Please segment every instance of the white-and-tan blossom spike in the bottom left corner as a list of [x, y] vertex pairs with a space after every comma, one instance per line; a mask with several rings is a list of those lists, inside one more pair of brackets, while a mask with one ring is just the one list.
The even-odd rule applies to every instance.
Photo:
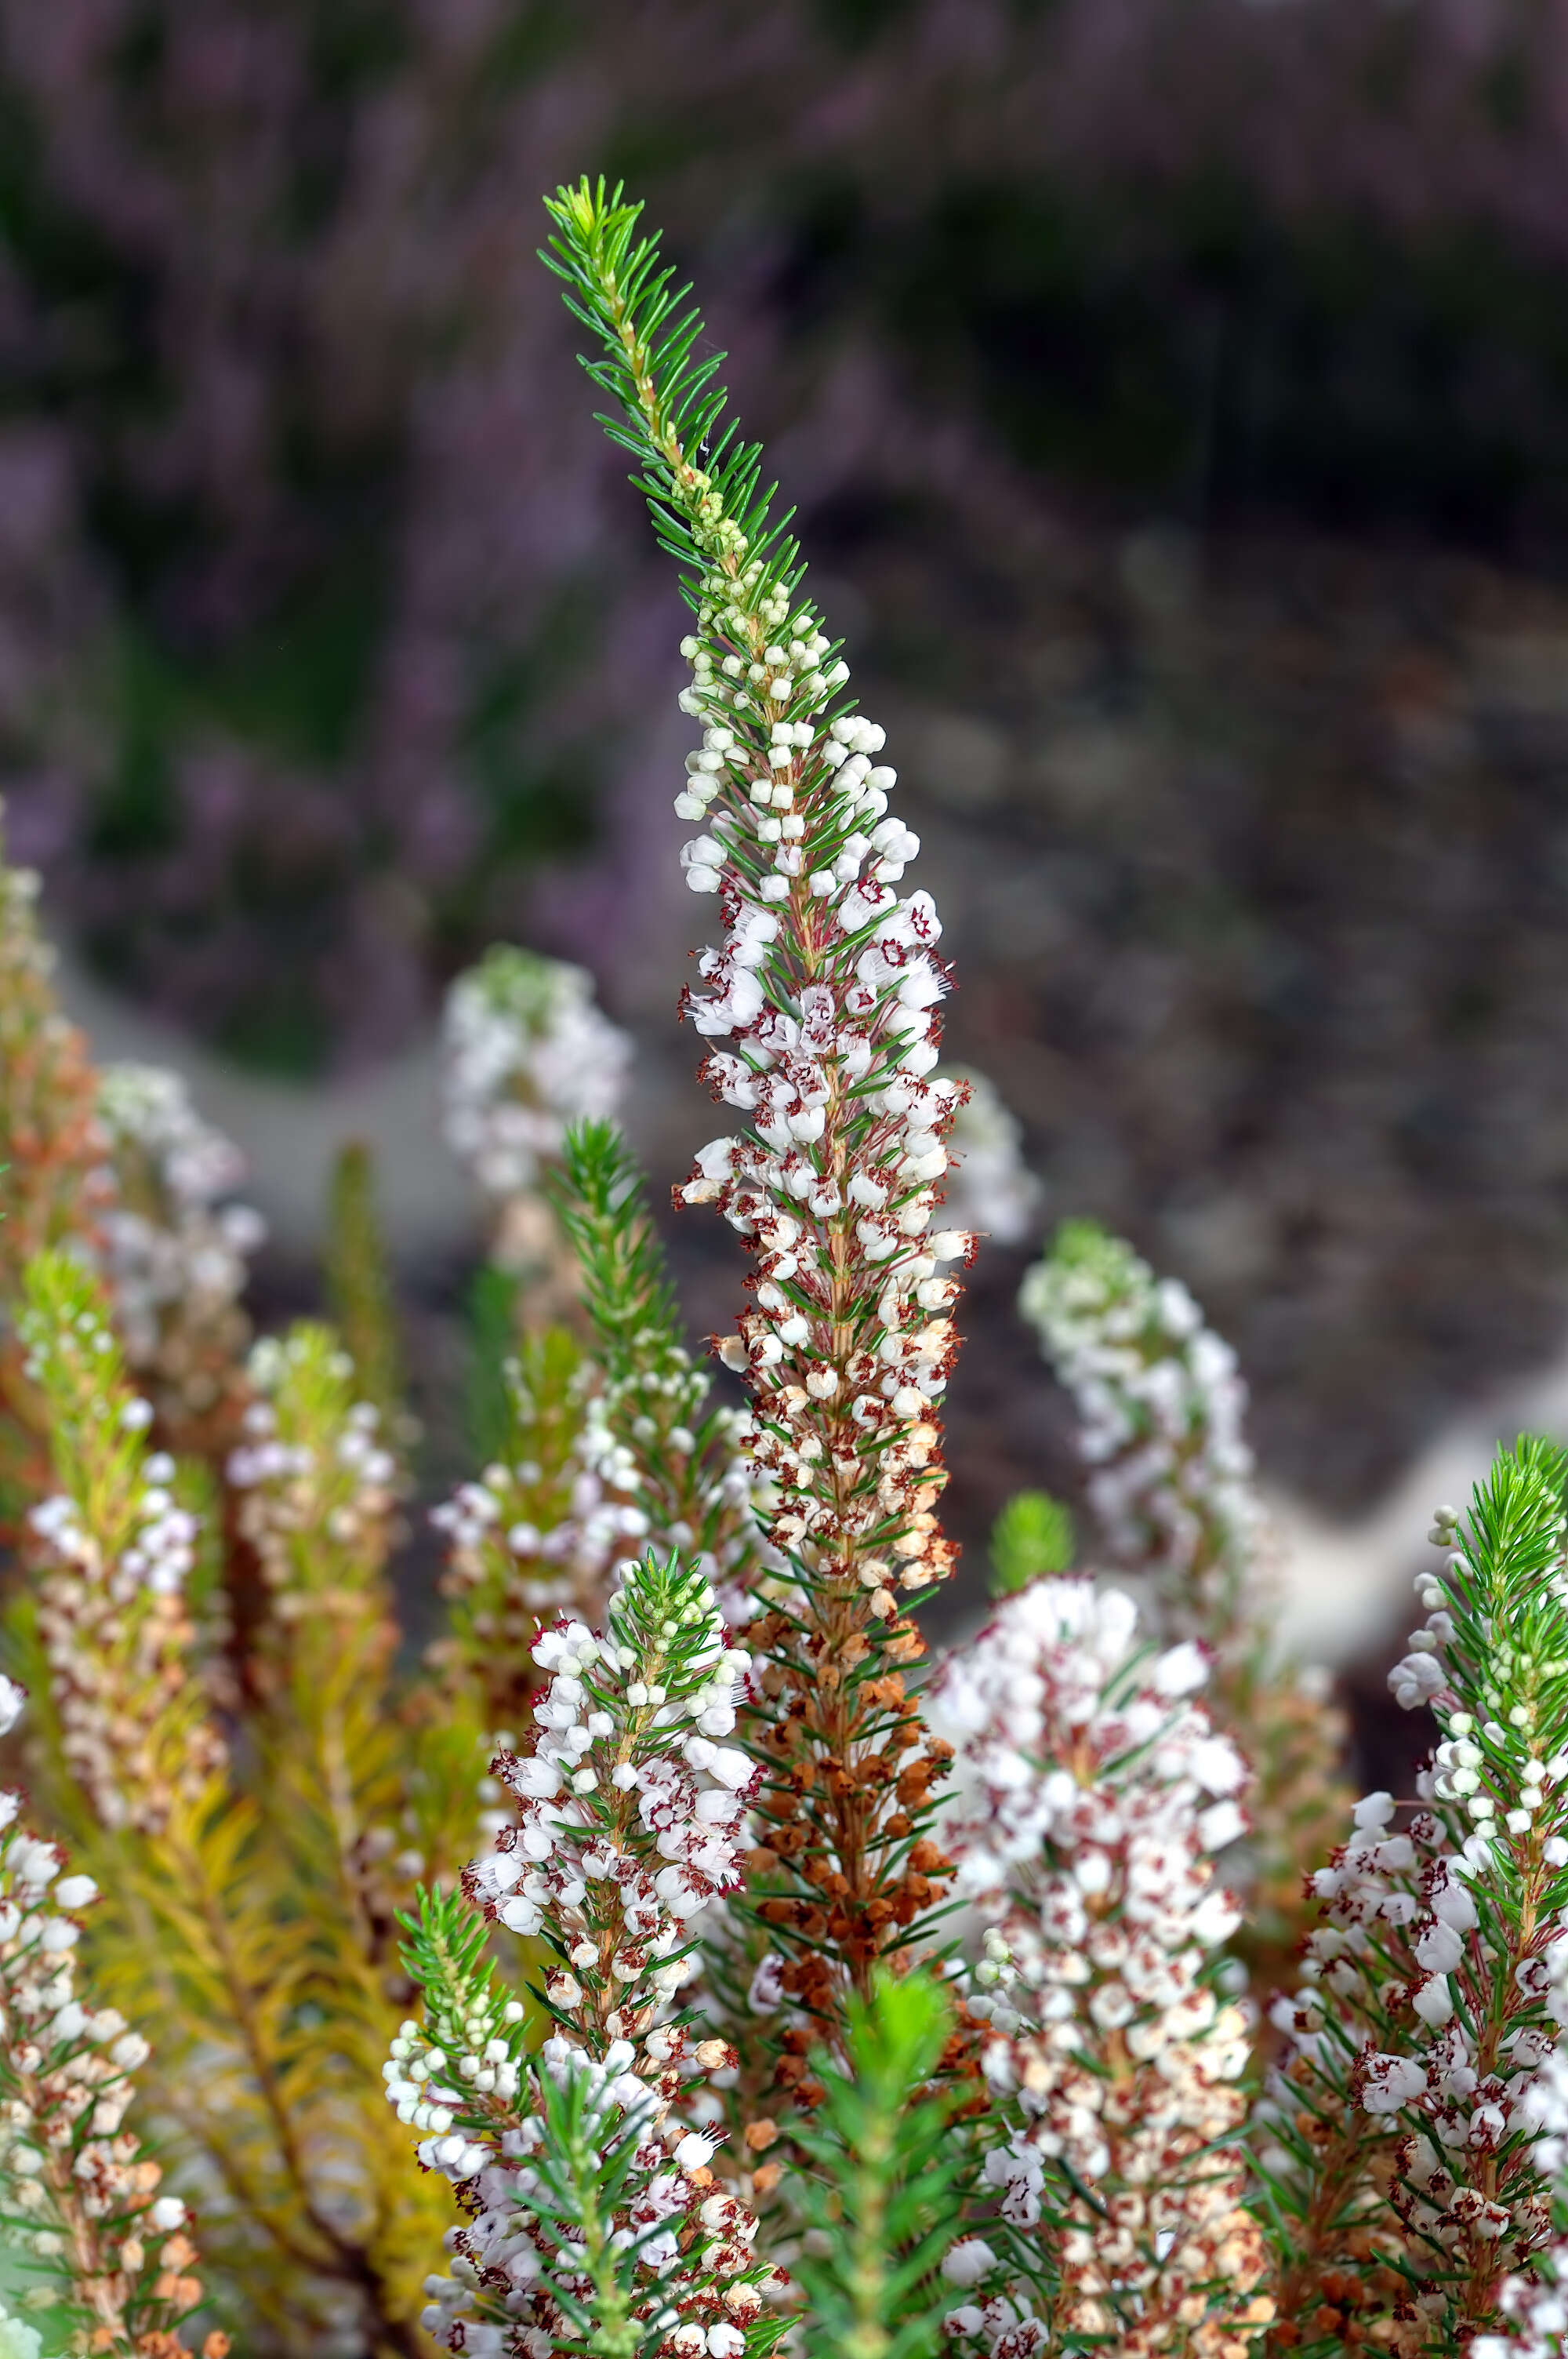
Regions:
[[[0, 1677], [0, 1732], [24, 1694]], [[19, 1824], [0, 1793], [0, 2173], [7, 2241], [87, 2319], [92, 2347], [177, 2359], [174, 2321], [200, 2300], [196, 2248], [179, 2196], [160, 2196], [158, 2163], [125, 2128], [146, 2041], [113, 2008], [75, 1991], [80, 1916], [99, 1897], [90, 1875]], [[9, 2328], [9, 2333], [7, 2333]], [[28, 2328], [0, 2324], [0, 2350], [21, 2359]], [[33, 2350], [38, 2340], [33, 2338]], [[212, 2359], [226, 2340], [210, 2340]]]

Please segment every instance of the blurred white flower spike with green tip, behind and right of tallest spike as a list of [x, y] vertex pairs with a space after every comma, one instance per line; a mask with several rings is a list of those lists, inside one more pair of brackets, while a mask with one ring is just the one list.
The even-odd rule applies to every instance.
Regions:
[[1151, 1576], [1172, 1632], [1245, 1628], [1264, 1517], [1231, 1345], [1186, 1286], [1089, 1222], [1061, 1229], [1019, 1309], [1073, 1394], [1108, 1557]]

